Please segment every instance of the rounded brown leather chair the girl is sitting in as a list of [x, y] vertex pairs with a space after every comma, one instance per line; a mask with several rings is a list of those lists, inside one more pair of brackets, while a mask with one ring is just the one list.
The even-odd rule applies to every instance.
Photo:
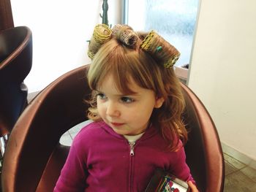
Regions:
[[[26, 107], [7, 143], [3, 191], [53, 191], [69, 151], [59, 139], [86, 120], [87, 69], [82, 66], [59, 77]], [[187, 162], [200, 191], [222, 191], [224, 164], [216, 128], [195, 94], [182, 87], [187, 101], [184, 118], [190, 130]]]

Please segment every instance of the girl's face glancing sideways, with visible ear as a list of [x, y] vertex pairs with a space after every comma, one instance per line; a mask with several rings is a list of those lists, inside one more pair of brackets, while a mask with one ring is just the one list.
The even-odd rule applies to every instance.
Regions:
[[109, 75], [97, 95], [99, 116], [121, 135], [136, 135], [145, 131], [154, 107], [161, 107], [164, 101], [157, 99], [154, 91], [140, 88], [134, 81], [129, 87], [135, 93], [124, 95], [115, 88], [113, 76]]

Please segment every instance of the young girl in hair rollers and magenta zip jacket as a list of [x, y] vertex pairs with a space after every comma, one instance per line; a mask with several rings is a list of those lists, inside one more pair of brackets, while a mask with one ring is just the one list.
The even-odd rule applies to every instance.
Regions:
[[156, 169], [187, 181], [184, 98], [173, 64], [179, 53], [154, 31], [94, 29], [87, 74], [89, 118], [72, 142], [54, 191], [145, 191]]

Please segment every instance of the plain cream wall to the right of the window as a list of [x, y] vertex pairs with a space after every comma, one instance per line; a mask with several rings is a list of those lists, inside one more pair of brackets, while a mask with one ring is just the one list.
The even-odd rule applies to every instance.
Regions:
[[201, 0], [189, 87], [220, 139], [256, 160], [256, 1]]

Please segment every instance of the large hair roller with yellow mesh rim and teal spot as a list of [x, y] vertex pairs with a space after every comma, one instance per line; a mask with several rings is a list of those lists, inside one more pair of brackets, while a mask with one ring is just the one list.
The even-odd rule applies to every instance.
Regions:
[[181, 55], [178, 50], [176, 50], [176, 47], [170, 45], [169, 42], [159, 36], [155, 31], [150, 31], [145, 39], [143, 39], [140, 47], [156, 60], [162, 61], [165, 68], [172, 67]]

